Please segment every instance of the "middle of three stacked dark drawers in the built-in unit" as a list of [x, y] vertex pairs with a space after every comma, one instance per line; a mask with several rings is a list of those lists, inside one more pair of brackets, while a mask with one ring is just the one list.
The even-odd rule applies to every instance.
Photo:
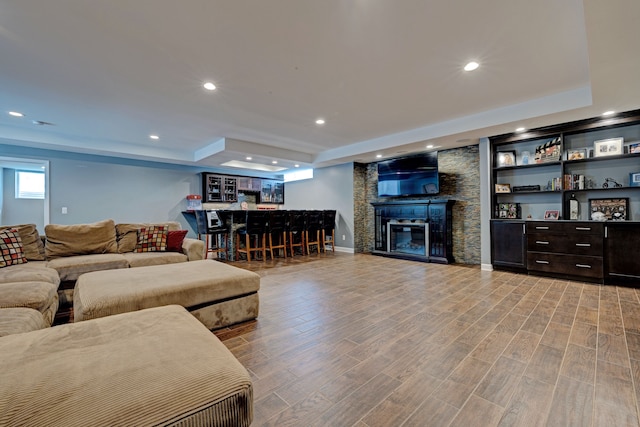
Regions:
[[571, 255], [602, 256], [603, 237], [598, 234], [531, 233], [527, 250]]

